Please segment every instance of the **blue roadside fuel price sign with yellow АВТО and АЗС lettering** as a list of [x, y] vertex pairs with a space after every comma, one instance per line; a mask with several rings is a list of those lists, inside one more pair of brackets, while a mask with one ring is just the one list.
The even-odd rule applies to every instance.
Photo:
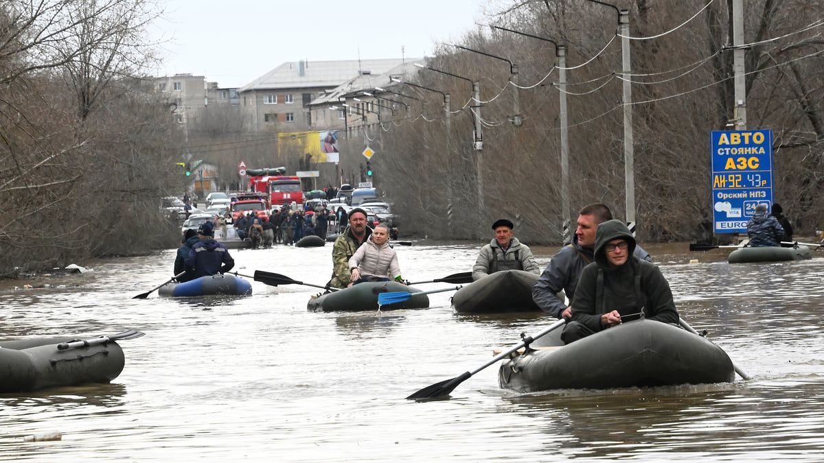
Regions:
[[756, 206], [772, 205], [772, 131], [715, 131], [713, 224], [716, 233], [746, 233]]

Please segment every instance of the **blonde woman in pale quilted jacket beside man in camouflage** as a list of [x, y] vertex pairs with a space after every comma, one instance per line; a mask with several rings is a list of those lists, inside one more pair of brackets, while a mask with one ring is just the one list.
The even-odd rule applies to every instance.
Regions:
[[369, 239], [349, 259], [353, 284], [364, 281], [389, 281], [389, 277], [402, 282], [398, 255], [389, 246], [389, 227], [379, 224]]

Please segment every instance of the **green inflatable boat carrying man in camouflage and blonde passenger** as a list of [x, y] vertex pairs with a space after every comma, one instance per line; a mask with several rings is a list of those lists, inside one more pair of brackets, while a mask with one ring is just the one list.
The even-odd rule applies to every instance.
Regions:
[[404, 302], [384, 306], [381, 310], [398, 309], [425, 309], [429, 306], [426, 294], [415, 294], [419, 289], [411, 288], [403, 283], [364, 282], [335, 292], [312, 296], [307, 304], [307, 310], [313, 312], [331, 311], [377, 311], [377, 295], [382, 292], [410, 292], [412, 296]]

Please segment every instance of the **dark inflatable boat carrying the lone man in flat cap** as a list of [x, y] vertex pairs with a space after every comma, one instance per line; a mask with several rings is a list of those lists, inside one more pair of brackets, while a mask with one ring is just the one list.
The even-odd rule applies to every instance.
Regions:
[[532, 287], [538, 278], [523, 270], [489, 274], [459, 289], [452, 296], [452, 307], [458, 313], [541, 311], [532, 301]]

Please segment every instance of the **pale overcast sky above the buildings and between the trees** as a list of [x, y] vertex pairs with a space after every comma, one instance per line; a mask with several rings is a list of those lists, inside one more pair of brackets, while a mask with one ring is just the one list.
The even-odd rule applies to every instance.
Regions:
[[421, 58], [485, 20], [489, 0], [162, 0], [157, 76], [241, 87], [287, 61]]

